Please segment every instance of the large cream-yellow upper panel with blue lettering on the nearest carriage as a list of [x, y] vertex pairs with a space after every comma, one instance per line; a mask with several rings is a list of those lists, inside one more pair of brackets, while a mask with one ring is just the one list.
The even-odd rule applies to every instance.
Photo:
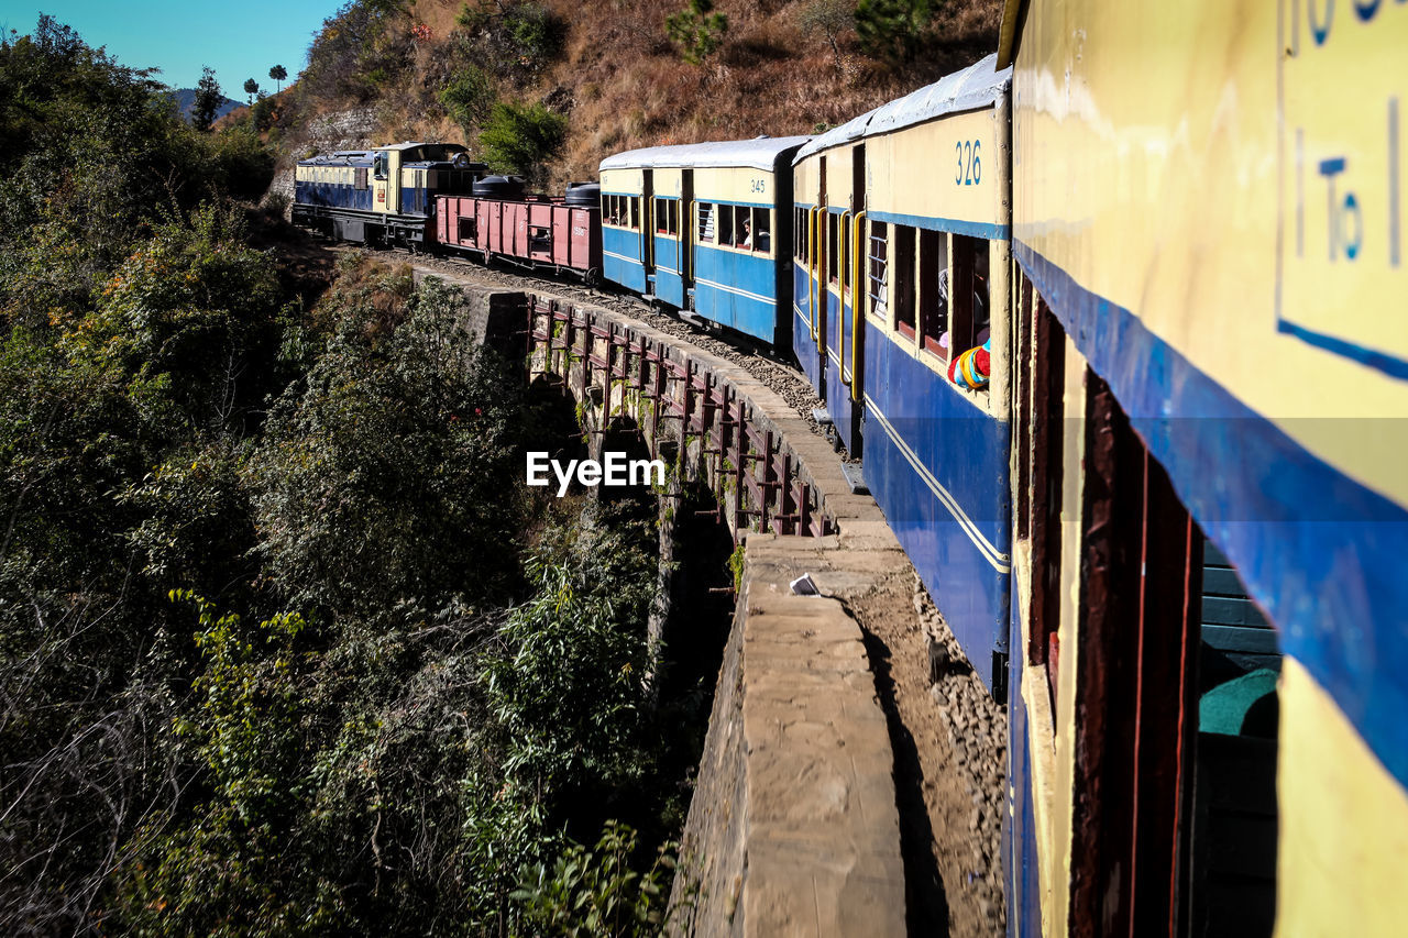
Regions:
[[1342, 354], [1408, 361], [1405, 48], [1398, 0], [1033, 0], [1012, 169], [1018, 239], [1400, 503], [1408, 421], [1304, 418], [1408, 417]]

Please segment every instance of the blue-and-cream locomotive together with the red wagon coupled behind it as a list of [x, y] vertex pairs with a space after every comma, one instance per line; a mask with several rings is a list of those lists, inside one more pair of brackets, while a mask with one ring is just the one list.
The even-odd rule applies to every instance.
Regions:
[[601, 273], [596, 183], [565, 197], [528, 194], [517, 177], [490, 176], [459, 144], [397, 144], [300, 161], [294, 224], [365, 245], [503, 258], [531, 269]]

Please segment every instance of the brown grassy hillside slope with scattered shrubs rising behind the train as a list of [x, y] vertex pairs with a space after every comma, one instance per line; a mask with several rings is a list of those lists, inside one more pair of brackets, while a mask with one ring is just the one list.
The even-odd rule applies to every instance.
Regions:
[[[566, 118], [565, 141], [536, 173], [549, 187], [596, 176], [622, 149], [815, 132], [991, 52], [1002, 4], [929, 3], [938, 11], [912, 20], [912, 55], [887, 62], [867, 54], [846, 0], [718, 0], [728, 28], [700, 65], [667, 38], [666, 18], [686, 6], [358, 0], [328, 20], [283, 97], [284, 163], [317, 149], [318, 117], [351, 108], [372, 115], [366, 142], [463, 141], [483, 154], [496, 101], [542, 104]], [[835, 44], [808, 21], [829, 23]]]

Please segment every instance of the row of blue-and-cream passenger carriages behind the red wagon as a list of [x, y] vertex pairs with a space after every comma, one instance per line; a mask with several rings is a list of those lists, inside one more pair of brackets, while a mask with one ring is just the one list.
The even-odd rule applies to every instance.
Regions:
[[610, 158], [603, 270], [790, 344], [863, 458], [1008, 704], [1011, 935], [1401, 934], [1408, 7], [1001, 37], [773, 162]]

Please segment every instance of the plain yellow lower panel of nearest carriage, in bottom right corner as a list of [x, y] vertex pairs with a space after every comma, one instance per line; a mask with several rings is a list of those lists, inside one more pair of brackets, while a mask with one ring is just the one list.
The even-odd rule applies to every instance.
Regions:
[[1294, 658], [1280, 699], [1277, 938], [1402, 935], [1408, 794]]

